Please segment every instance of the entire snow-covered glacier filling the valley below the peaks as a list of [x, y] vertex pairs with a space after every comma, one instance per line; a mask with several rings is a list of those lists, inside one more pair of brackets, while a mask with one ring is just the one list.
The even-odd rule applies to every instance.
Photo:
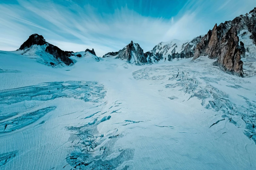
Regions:
[[255, 76], [39, 51], [0, 51], [0, 170], [256, 169]]

